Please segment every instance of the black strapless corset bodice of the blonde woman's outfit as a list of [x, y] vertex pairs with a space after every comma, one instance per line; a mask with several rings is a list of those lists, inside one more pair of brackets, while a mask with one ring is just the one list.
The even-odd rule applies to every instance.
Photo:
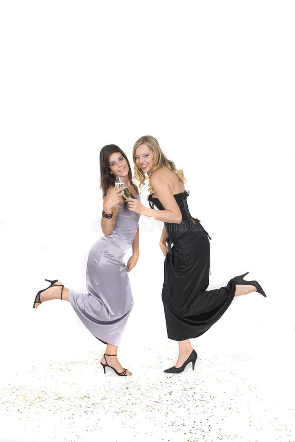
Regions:
[[[200, 221], [196, 218], [193, 218], [190, 214], [188, 203], [187, 203], [187, 197], [189, 196], [189, 193], [187, 191], [176, 193], [173, 195], [178, 207], [180, 209], [181, 215], [182, 215], [182, 221], [177, 223], [172, 222], [165, 222], [165, 226], [169, 235], [169, 238], [172, 240], [172, 242], [181, 237], [183, 233], [188, 231], [194, 231], [198, 228], [203, 229], [203, 227], [200, 224]], [[148, 195], [148, 202], [149, 207], [151, 209], [154, 209], [154, 206], [159, 210], [165, 210], [165, 208], [162, 206], [160, 200], [158, 198], [154, 198], [151, 193]], [[204, 230], [205, 231], [205, 230]], [[208, 233], [205, 231], [207, 236], [209, 237]], [[210, 238], [210, 237], [209, 237]], [[211, 239], [211, 238], [210, 238]]]

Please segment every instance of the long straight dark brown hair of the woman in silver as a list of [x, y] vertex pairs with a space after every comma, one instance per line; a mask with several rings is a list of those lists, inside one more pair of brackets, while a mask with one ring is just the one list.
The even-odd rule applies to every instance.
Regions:
[[130, 180], [130, 183], [132, 183], [132, 173], [131, 173], [131, 167], [128, 161], [128, 158], [124, 154], [123, 150], [120, 149], [119, 146], [116, 146], [116, 144], [107, 144], [106, 146], [103, 146], [103, 148], [100, 151], [99, 154], [99, 163], [100, 163], [100, 188], [102, 189], [102, 197], [104, 198], [106, 195], [106, 192], [110, 186], [115, 187], [115, 181], [116, 177], [113, 173], [110, 172], [110, 165], [109, 165], [109, 158], [113, 153], [120, 152], [121, 155], [125, 158], [127, 161], [129, 172], [128, 172], [128, 178]]

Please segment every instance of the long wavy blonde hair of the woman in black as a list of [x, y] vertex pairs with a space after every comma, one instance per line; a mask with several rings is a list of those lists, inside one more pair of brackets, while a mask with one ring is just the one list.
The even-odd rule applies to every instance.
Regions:
[[[143, 169], [141, 167], [137, 166], [137, 164], [135, 162], [135, 152], [136, 152], [136, 149], [141, 144], [147, 144], [149, 150], [151, 152], [153, 152], [153, 164], [152, 164], [152, 168], [148, 172], [148, 176], [145, 176]], [[159, 146], [158, 141], [156, 140], [156, 138], [152, 137], [151, 135], [144, 135], [143, 137], [140, 137], [135, 142], [135, 144], [133, 146], [133, 161], [134, 161], [134, 178], [139, 181], [139, 187], [141, 189], [144, 186], [145, 181], [147, 179], [149, 179], [151, 177], [151, 175], [157, 169], [159, 169], [160, 167], [163, 167], [163, 166], [168, 167], [169, 170], [171, 170], [173, 173], [175, 173], [175, 175], [177, 176], [177, 178], [179, 179], [181, 184], [184, 185], [185, 177], [183, 174], [183, 170], [177, 169], [175, 164], [173, 163], [173, 161], [170, 161], [166, 158], [166, 156], [164, 155], [164, 153], [162, 152], [162, 150]], [[154, 192], [152, 186], [150, 185], [150, 181], [148, 183], [148, 192], [150, 192], [150, 193]]]

